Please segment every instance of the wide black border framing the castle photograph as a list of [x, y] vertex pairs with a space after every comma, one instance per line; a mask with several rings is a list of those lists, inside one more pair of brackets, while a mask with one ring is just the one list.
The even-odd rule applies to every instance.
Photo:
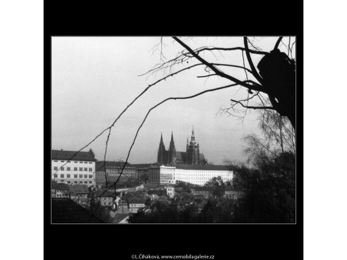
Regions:
[[[60, 2], [59, 2], [60, 3]], [[132, 3], [135, 6], [135, 3]], [[136, 4], [137, 6], [138, 4]], [[52, 225], [50, 175], [45, 175], [45, 255], [63, 258], [131, 259], [136, 254], [207, 254], [215, 259], [301, 258], [303, 248], [302, 168], [302, 7], [238, 7], [202, 4], [199, 7], [147, 3], [139, 11], [118, 5], [45, 6], [45, 169], [50, 172], [51, 36], [296, 36], [297, 62], [297, 218], [283, 225]], [[132, 8], [134, 8], [134, 6]], [[160, 9], [158, 9], [160, 7]], [[276, 9], [275, 9], [276, 8]], [[146, 9], [151, 9], [149, 12]], [[201, 9], [201, 10], [200, 10]], [[93, 256], [93, 254], [96, 254]], [[78, 257], [78, 258], [76, 258]]]

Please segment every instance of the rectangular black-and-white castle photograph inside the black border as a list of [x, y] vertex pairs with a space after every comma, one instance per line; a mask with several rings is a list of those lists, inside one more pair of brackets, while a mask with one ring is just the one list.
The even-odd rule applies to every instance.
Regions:
[[52, 224], [296, 224], [296, 36], [51, 36]]

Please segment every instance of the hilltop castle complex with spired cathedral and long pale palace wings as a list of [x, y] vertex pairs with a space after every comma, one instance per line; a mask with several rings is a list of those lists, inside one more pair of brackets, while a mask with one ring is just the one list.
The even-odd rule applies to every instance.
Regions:
[[[225, 165], [208, 163], [200, 153], [195, 141], [194, 128], [190, 142], [187, 138], [186, 152], [177, 152], [171, 133], [169, 149], [165, 149], [160, 136], [157, 162], [131, 165], [124, 162], [97, 161], [89, 152], [52, 150], [52, 179], [58, 184], [94, 186], [107, 182], [127, 182], [129, 178], [156, 185], [174, 185], [186, 182], [203, 186], [213, 177], [220, 176], [223, 182], [232, 181], [233, 171]], [[123, 174], [120, 177], [120, 171]], [[59, 172], [59, 173], [58, 173]], [[170, 192], [173, 187], [169, 188]], [[59, 190], [59, 189], [57, 189]], [[60, 189], [61, 190], [61, 189]]]

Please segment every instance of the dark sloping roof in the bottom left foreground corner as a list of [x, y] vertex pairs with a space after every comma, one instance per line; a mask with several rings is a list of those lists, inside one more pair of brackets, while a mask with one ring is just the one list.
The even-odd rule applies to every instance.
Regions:
[[52, 198], [52, 223], [102, 224], [105, 222], [73, 202], [70, 198]]

